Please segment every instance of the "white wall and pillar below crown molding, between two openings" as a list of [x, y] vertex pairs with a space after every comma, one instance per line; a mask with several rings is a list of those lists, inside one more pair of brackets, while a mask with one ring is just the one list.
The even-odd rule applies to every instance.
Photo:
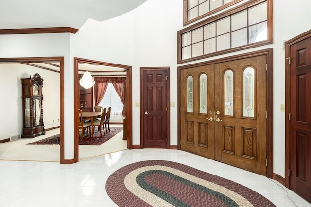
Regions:
[[65, 57], [65, 159], [74, 157], [73, 59], [70, 58], [71, 35], [69, 33], [0, 35], [0, 58]]

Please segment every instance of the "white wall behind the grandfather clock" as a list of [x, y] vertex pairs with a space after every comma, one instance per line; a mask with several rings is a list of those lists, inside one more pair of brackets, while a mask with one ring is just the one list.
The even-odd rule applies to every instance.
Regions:
[[[21, 78], [33, 77], [38, 73], [43, 79], [43, 121], [44, 128], [60, 126], [59, 73], [24, 64], [0, 64], [0, 139], [22, 134], [23, 109]], [[55, 122], [53, 123], [53, 119]]]

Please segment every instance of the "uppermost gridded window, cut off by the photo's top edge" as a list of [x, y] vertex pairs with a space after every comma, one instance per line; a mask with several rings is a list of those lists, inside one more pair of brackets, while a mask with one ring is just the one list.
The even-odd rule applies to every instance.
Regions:
[[211, 15], [242, 0], [184, 0], [184, 25]]

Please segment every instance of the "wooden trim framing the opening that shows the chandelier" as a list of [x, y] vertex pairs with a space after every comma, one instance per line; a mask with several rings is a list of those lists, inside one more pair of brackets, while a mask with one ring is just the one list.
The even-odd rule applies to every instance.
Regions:
[[74, 58], [74, 162], [79, 161], [79, 133], [78, 133], [78, 109], [80, 107], [79, 103], [79, 93], [80, 93], [80, 84], [79, 84], [79, 68], [78, 64], [95, 64], [95, 65], [104, 65], [111, 67], [119, 67], [126, 69], [126, 119], [127, 119], [127, 148], [132, 149], [132, 66], [106, 63], [95, 60], [88, 60], [83, 58]]

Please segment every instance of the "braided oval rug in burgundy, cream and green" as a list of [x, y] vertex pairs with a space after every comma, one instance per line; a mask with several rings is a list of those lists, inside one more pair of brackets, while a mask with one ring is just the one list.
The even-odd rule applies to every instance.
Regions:
[[108, 177], [106, 191], [120, 207], [275, 207], [238, 183], [163, 160], [120, 168]]

